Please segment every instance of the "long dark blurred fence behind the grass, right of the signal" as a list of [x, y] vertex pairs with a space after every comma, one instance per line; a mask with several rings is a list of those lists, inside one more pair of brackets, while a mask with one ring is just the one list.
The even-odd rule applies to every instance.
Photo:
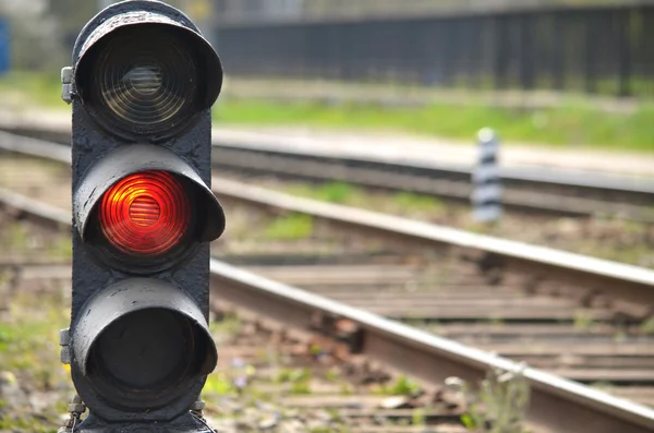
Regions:
[[[227, 72], [654, 96], [654, 5], [222, 23]], [[647, 44], [647, 41], [650, 44]]]

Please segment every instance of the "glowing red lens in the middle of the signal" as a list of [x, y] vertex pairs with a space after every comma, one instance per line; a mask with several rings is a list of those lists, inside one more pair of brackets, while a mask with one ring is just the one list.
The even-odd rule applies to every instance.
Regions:
[[160, 255], [180, 242], [191, 220], [189, 196], [166, 171], [123, 178], [102, 196], [99, 219], [107, 240], [132, 255]]

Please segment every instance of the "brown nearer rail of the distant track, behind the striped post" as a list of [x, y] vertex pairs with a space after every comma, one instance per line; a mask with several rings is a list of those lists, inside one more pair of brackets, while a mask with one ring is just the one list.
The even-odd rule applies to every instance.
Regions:
[[[364, 188], [392, 192], [411, 192], [435, 195], [459, 203], [470, 204], [472, 184], [470, 172], [460, 170], [461, 176], [452, 175], [452, 169], [421, 168], [420, 166], [380, 166], [380, 163], [362, 163], [352, 159], [328, 160], [332, 158], [296, 157], [278, 152], [243, 151], [225, 145], [216, 146], [214, 168], [256, 175], [271, 175], [290, 180], [344, 181]], [[371, 166], [371, 167], [367, 167]], [[450, 179], [452, 178], [452, 179]], [[534, 189], [536, 184], [530, 180]], [[505, 182], [506, 183], [506, 182]], [[542, 183], [540, 183], [542, 187]], [[585, 189], [585, 187], [584, 187]], [[579, 192], [580, 194], [583, 191]], [[617, 194], [611, 190], [611, 194]], [[637, 194], [633, 193], [632, 194]], [[638, 192], [637, 200], [644, 200]], [[649, 196], [649, 195], [647, 195]], [[652, 195], [654, 197], [654, 194]], [[652, 222], [654, 214], [642, 206], [629, 204], [610, 205], [600, 200], [579, 196], [561, 196], [548, 192], [531, 192], [511, 189], [502, 194], [502, 206], [512, 211], [558, 216], [619, 216], [632, 220]]]

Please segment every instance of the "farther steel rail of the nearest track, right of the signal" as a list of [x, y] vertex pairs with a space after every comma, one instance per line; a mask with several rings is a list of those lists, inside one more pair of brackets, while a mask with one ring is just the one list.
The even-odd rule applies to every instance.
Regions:
[[374, 232], [399, 243], [426, 248], [459, 248], [489, 255], [494, 266], [522, 275], [537, 276], [589, 293], [606, 292], [632, 302], [643, 316], [652, 313], [654, 270], [589, 257], [544, 246], [476, 234], [372, 211], [295, 197], [241, 182], [216, 179], [214, 192], [221, 199], [257, 206], [307, 214], [358, 232]]

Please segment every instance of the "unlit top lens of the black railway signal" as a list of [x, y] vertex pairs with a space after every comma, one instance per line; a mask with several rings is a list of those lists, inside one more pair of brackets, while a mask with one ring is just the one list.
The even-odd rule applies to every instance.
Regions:
[[159, 135], [187, 125], [197, 112], [196, 65], [183, 38], [166, 27], [112, 34], [92, 67], [90, 105], [113, 131]]

